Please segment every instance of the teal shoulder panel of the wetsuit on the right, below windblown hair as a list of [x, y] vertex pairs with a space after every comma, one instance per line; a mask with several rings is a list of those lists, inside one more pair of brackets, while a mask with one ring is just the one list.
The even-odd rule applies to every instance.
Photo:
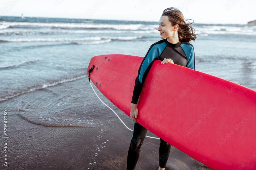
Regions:
[[195, 69], [195, 54], [194, 54], [194, 47], [192, 44], [189, 43], [182, 43], [180, 45], [185, 52], [187, 58], [188, 58], [188, 63], [187, 63], [187, 68], [190, 69]]

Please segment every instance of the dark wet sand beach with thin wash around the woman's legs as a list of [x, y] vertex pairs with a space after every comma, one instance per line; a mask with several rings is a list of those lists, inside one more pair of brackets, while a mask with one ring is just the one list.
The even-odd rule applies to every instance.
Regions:
[[[130, 117], [93, 88], [132, 129]], [[8, 111], [9, 137], [6, 167], [1, 133], [0, 169], [126, 169], [132, 131], [101, 103], [87, 77], [23, 94], [0, 106], [2, 117]], [[147, 135], [157, 137], [149, 131]], [[159, 144], [159, 139], [145, 138], [135, 169], [158, 167]], [[166, 169], [210, 168], [172, 146]]]

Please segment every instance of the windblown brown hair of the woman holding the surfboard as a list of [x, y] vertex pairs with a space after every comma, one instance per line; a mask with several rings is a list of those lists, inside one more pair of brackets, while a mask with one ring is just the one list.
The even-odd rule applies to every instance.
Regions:
[[[195, 29], [192, 28], [191, 24], [194, 23], [194, 20], [192, 23], [186, 23], [185, 21], [189, 20], [189, 19], [184, 19], [184, 16], [182, 14], [182, 12], [175, 7], [171, 7], [171, 8], [166, 8], [163, 11], [162, 16], [167, 16], [169, 18], [169, 21], [171, 22], [172, 26], [178, 24], [179, 28], [178, 28], [178, 36], [179, 36], [179, 40], [183, 41], [183, 42], [187, 42], [189, 43], [190, 40], [195, 41], [196, 39], [196, 35], [195, 33]], [[194, 33], [193, 33], [194, 31]]]

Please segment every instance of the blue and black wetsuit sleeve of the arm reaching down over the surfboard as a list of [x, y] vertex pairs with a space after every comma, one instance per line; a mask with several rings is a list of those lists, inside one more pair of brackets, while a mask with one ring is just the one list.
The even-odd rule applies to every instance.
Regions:
[[138, 69], [138, 76], [135, 79], [131, 103], [137, 104], [141, 94], [142, 85], [146, 79], [147, 73], [149, 72], [153, 64], [153, 61], [159, 58], [159, 52], [160, 51], [157, 49], [157, 47], [152, 44], [148, 49], [146, 56], [143, 58], [141, 65]]

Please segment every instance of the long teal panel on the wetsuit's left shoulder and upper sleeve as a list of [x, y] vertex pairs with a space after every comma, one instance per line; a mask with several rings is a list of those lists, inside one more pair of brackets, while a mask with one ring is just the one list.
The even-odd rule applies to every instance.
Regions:
[[163, 52], [163, 50], [165, 49], [166, 47], [166, 43], [163, 42], [161, 44], [156, 44], [154, 45], [150, 51], [148, 52], [145, 60], [143, 61], [142, 63], [142, 66], [141, 66], [141, 70], [140, 70], [140, 75], [139, 75], [139, 81], [140, 83], [142, 83], [142, 78], [143, 78], [143, 75], [146, 71], [146, 69], [148, 68], [148, 66], [150, 65], [150, 63], [154, 60], [154, 59], [157, 59], [159, 60], [159, 56], [161, 55], [161, 53]]

